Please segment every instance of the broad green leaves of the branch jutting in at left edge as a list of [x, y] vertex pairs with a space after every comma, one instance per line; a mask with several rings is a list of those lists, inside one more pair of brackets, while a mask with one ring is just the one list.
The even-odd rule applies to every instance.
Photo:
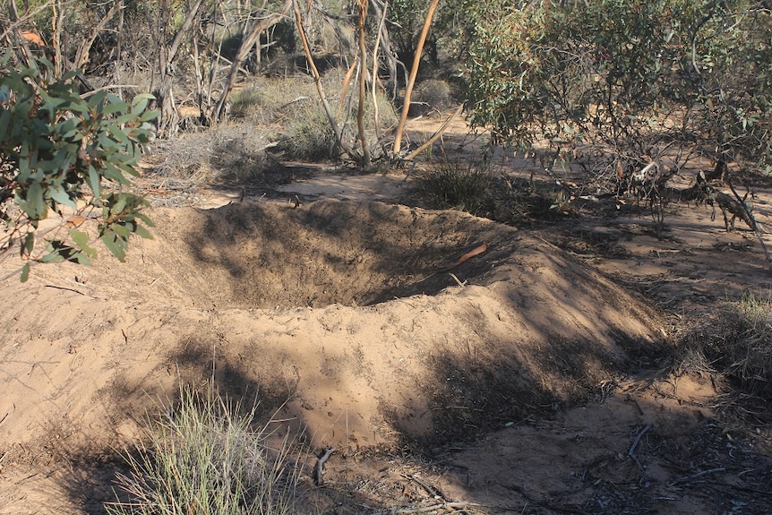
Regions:
[[[10, 54], [2, 64], [0, 252], [21, 244], [22, 280], [30, 262], [90, 262], [97, 239], [123, 261], [129, 237], [150, 237], [152, 226], [142, 197], [123, 191], [151, 137], [150, 95], [131, 104], [106, 91], [83, 99], [74, 72], [49, 80], [47, 61], [11, 68]], [[52, 211], [60, 223], [41, 227]], [[51, 233], [40, 250], [39, 236]]]

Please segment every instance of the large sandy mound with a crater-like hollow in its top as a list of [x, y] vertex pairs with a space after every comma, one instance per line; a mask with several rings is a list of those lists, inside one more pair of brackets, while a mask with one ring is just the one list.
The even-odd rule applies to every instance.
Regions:
[[639, 300], [463, 213], [320, 201], [152, 218], [155, 239], [126, 263], [4, 285], [0, 453], [115, 444], [155, 399], [212, 374], [267, 412], [287, 401], [281, 417], [314, 445], [438, 445], [575, 399], [661, 349]]

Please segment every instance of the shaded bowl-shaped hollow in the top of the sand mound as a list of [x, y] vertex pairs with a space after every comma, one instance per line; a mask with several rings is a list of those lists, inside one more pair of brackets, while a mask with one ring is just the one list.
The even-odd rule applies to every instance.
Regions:
[[[154, 257], [167, 282], [197, 304], [243, 308], [374, 305], [433, 295], [457, 286], [456, 279], [482, 280], [517, 240], [516, 229], [464, 213], [381, 202], [229, 204], [195, 211], [184, 234], [175, 230], [172, 217], [179, 216], [159, 211], [156, 217], [166, 248]], [[485, 253], [453, 266], [484, 244]]]

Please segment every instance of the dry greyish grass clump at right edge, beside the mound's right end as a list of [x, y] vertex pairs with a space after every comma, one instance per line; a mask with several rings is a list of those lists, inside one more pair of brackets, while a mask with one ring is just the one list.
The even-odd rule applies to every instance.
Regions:
[[678, 365], [724, 376], [746, 394], [772, 399], [772, 300], [749, 293], [727, 303], [686, 338]]

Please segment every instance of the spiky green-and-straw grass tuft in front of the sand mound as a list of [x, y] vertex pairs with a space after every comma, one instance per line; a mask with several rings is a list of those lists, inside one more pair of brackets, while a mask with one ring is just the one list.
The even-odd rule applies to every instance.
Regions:
[[254, 409], [244, 412], [211, 388], [183, 390], [178, 406], [150, 423], [145, 441], [126, 453], [129, 471], [117, 478], [124, 500], [107, 503], [107, 513], [296, 513], [300, 467], [293, 446], [253, 424]]

